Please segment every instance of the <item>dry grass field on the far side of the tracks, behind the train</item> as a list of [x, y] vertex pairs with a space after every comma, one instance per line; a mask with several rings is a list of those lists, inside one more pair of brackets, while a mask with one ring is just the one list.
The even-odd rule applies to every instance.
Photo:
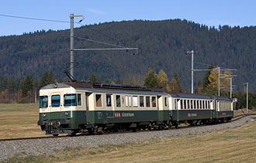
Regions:
[[[243, 111], [236, 110], [237, 114]], [[0, 104], [0, 139], [46, 136], [37, 126], [38, 116], [38, 104]]]

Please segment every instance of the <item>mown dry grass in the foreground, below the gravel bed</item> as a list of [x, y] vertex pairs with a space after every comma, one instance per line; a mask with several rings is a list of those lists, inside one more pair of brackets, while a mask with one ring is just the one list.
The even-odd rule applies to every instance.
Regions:
[[152, 139], [99, 148], [67, 148], [56, 155], [11, 162], [255, 162], [256, 122], [226, 131]]

